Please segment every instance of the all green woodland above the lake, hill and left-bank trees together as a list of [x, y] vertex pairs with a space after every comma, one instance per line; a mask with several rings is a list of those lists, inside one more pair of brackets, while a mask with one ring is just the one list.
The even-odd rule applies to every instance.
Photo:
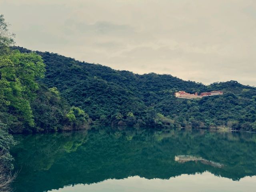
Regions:
[[[182, 100], [174, 93], [222, 90]], [[0, 160], [12, 167], [9, 133], [84, 129], [88, 124], [148, 128], [256, 130], [256, 88], [236, 81], [202, 83], [155, 73], [134, 74], [50, 52], [14, 46], [0, 15]], [[0, 181], [1, 183], [1, 181]]]

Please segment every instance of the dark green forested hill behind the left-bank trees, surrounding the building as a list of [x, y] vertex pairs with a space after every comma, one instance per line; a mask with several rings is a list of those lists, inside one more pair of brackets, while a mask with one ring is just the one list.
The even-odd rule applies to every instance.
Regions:
[[[205, 86], [166, 74], [139, 75], [59, 54], [37, 53], [46, 64], [45, 78], [39, 81], [49, 88], [56, 87], [71, 106], [82, 108], [94, 123], [256, 130], [254, 87], [236, 81]], [[179, 90], [222, 90], [224, 95], [182, 100], [173, 95]]]

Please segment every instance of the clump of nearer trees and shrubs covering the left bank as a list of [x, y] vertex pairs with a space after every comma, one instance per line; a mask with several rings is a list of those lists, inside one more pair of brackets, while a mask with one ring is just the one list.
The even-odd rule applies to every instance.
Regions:
[[84, 128], [88, 115], [70, 106], [56, 88], [36, 80], [44, 78], [45, 64], [35, 52], [12, 50], [14, 34], [0, 15], [0, 189], [9, 190], [14, 145], [9, 133]]

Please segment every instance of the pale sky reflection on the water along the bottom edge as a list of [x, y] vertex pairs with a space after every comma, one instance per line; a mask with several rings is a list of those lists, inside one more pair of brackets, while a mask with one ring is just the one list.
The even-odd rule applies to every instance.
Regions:
[[256, 176], [244, 177], [239, 182], [214, 176], [210, 172], [182, 174], [168, 180], [146, 179], [139, 176], [122, 180], [108, 179], [95, 184], [65, 186], [49, 192], [255, 192]]

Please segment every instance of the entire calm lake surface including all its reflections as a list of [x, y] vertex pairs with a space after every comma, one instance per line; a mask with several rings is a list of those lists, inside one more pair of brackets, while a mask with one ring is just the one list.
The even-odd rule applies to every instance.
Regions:
[[16, 135], [16, 192], [255, 192], [256, 134], [96, 127]]

